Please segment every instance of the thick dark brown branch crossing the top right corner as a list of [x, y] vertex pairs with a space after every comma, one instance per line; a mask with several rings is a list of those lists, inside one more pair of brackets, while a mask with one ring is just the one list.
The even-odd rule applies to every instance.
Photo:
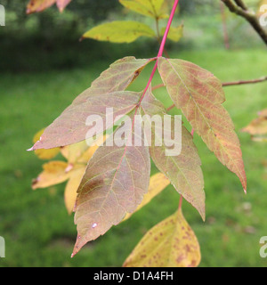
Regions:
[[250, 12], [247, 10], [246, 5], [242, 0], [234, 0], [236, 4], [234, 4], [231, 0], [221, 0], [223, 4], [225, 4], [228, 9], [246, 19], [250, 25], [255, 29], [257, 34], [262, 37], [263, 42], [267, 45], [267, 31], [261, 26], [255, 12]]

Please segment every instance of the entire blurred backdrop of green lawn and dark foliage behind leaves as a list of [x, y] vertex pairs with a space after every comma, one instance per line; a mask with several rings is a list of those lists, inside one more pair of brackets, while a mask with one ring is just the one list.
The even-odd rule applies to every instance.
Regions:
[[[85, 31], [110, 20], [141, 20], [155, 28], [153, 20], [125, 10], [117, 0], [72, 0], [62, 13], [53, 6], [30, 15], [28, 0], [0, 4], [6, 12], [5, 27], [0, 27], [0, 236], [5, 240], [0, 266], [121, 266], [143, 234], [174, 213], [177, 192], [166, 188], [71, 259], [77, 232], [73, 215], [64, 206], [65, 184], [33, 191], [32, 179], [45, 161], [26, 150], [34, 134], [57, 118], [110, 63], [127, 55], [148, 58], [158, 53], [157, 40], [140, 38], [129, 45], [80, 42]], [[174, 25], [181, 23], [180, 42], [166, 45], [172, 58], [192, 61], [223, 82], [267, 75], [266, 45], [246, 20], [222, 10], [220, 1], [181, 0]], [[136, 85], [140, 90], [150, 69], [143, 72], [143, 81]], [[195, 136], [205, 176], [206, 223], [186, 202], [183, 214], [200, 243], [200, 266], [267, 265], [267, 258], [259, 255], [259, 240], [267, 236], [266, 142], [252, 142], [241, 132], [267, 108], [266, 90], [266, 82], [225, 88], [224, 106], [239, 134], [247, 170], [247, 195], [238, 178]], [[159, 89], [156, 96], [163, 99], [165, 92]]]

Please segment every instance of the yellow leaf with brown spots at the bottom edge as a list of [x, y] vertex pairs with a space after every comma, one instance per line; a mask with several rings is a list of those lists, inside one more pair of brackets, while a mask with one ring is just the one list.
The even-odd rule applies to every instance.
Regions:
[[124, 267], [196, 267], [200, 260], [197, 237], [178, 210], [145, 234]]

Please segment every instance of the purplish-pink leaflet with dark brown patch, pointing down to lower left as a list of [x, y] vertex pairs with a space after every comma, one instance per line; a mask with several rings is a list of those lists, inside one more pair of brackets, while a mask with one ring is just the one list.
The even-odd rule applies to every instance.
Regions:
[[[132, 124], [134, 111], [128, 118], [127, 135], [130, 145], [117, 146], [117, 132], [89, 160], [85, 175], [77, 190], [75, 224], [77, 224], [76, 254], [85, 243], [96, 240], [119, 224], [127, 213], [133, 213], [142, 203], [150, 184], [149, 147], [134, 146]], [[131, 132], [131, 133], [130, 133]]]

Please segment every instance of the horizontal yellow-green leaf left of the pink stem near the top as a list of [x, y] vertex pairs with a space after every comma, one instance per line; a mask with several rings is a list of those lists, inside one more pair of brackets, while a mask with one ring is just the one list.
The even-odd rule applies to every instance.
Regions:
[[112, 21], [101, 24], [87, 31], [83, 38], [89, 37], [98, 41], [111, 43], [132, 43], [138, 37], [155, 37], [155, 32], [149, 26], [138, 21]]

